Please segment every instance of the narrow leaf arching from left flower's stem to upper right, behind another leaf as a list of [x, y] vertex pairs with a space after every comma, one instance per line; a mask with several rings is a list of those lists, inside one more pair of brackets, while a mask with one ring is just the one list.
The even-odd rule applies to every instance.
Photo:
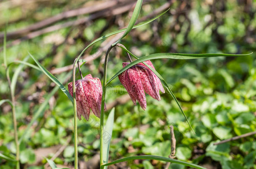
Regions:
[[[137, 25], [134, 25], [134, 26], [133, 26], [133, 29], [134, 29], [134, 28], [141, 27], [141, 26], [146, 25], [146, 24], [148, 24], [148, 23], [151, 23], [152, 21], [156, 20], [156, 19], [159, 18], [160, 16], [164, 15], [168, 10], [170, 10], [170, 8], [167, 9], [165, 12], [163, 12], [163, 13], [157, 15], [155, 18], [152, 18], [152, 19], [147, 20], [147, 21], [145, 21], [145, 22], [141, 22], [141, 23], [139, 23], [139, 24], [137, 24]], [[84, 53], [85, 50], [87, 50], [87, 49], [88, 49], [91, 45], [93, 45], [94, 43], [97, 43], [99, 40], [103, 40], [103, 39], [105, 39], [105, 38], [107, 38], [107, 37], [110, 37], [110, 36], [112, 36], [112, 35], [115, 35], [115, 34], [124, 32], [126, 29], [127, 29], [127, 28], [120, 29], [120, 30], [116, 30], [116, 31], [113, 31], [113, 32], [111, 32], [111, 33], [108, 33], [108, 34], [106, 34], [106, 35], [103, 35], [103, 36], [97, 38], [96, 40], [92, 41], [89, 45], [87, 45], [86, 48], [84, 48], [84, 50], [80, 53], [80, 55], [78, 55], [77, 58], [79, 59], [79, 58], [81, 57], [81, 55], [83, 55], [83, 53]]]

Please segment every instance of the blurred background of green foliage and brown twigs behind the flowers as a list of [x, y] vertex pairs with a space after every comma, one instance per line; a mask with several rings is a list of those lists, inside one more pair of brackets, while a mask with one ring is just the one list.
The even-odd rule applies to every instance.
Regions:
[[[54, 76], [71, 81], [74, 58], [91, 41], [128, 25], [136, 0], [0, 0], [0, 63], [3, 63], [3, 32], [7, 25], [8, 63], [23, 60], [28, 51]], [[256, 137], [213, 145], [219, 140], [256, 129], [256, 1], [254, 0], [144, 0], [138, 23], [122, 44], [138, 57], [152, 53], [234, 53], [241, 57], [197, 60], [160, 59], [152, 63], [178, 98], [196, 134], [185, 122], [177, 104], [167, 93], [156, 101], [146, 95], [147, 109], [133, 106], [118, 78], [107, 90], [107, 109], [115, 107], [110, 161], [131, 155], [170, 154], [170, 125], [174, 126], [176, 159], [207, 169], [255, 169]], [[119, 34], [86, 50], [88, 61], [81, 70], [103, 78], [104, 55]], [[108, 79], [127, 62], [120, 48], [110, 53]], [[28, 62], [35, 64], [29, 58]], [[10, 75], [18, 64], [10, 67]], [[77, 74], [77, 79], [80, 78]], [[0, 99], [10, 98], [4, 66], [0, 67]], [[18, 134], [43, 103], [20, 144], [22, 169], [49, 168], [44, 157], [57, 166], [73, 166], [73, 108], [62, 91], [38, 70], [24, 66], [16, 85]], [[52, 93], [50, 93], [52, 91]], [[47, 98], [49, 97], [49, 98]], [[13, 156], [14, 134], [11, 107], [0, 106], [0, 152]], [[81, 169], [97, 169], [99, 119], [78, 121], [78, 157]], [[161, 169], [161, 161], [134, 160], [110, 169]], [[0, 169], [15, 163], [0, 159]], [[186, 167], [171, 164], [170, 169]]]

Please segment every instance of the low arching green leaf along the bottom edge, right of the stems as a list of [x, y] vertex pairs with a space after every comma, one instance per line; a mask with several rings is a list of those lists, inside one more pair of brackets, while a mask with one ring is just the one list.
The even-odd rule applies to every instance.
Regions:
[[129, 157], [125, 157], [123, 159], [118, 159], [115, 161], [112, 161], [110, 163], [104, 164], [102, 166], [100, 166], [101, 169], [103, 169], [104, 166], [110, 166], [112, 164], [117, 164], [120, 162], [124, 162], [124, 161], [129, 161], [129, 160], [135, 160], [135, 159], [147, 159], [147, 160], [159, 160], [159, 161], [166, 161], [166, 162], [171, 162], [171, 163], [176, 163], [176, 164], [181, 164], [184, 166], [190, 166], [196, 169], [206, 169], [202, 166], [196, 165], [196, 164], [191, 164], [185, 161], [180, 161], [180, 160], [176, 160], [176, 159], [169, 159], [167, 157], [162, 157], [162, 156], [129, 156]]

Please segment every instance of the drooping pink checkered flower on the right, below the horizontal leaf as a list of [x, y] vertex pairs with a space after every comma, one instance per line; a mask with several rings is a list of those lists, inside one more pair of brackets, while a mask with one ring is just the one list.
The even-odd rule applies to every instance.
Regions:
[[[145, 61], [145, 63], [155, 69], [151, 61]], [[123, 67], [128, 64], [129, 63], [123, 63]], [[136, 105], [136, 100], [138, 100], [143, 110], [146, 110], [145, 92], [158, 101], [161, 100], [159, 90], [165, 93], [160, 79], [143, 63], [138, 63], [128, 68], [121, 73], [118, 78], [130, 95], [134, 105]]]

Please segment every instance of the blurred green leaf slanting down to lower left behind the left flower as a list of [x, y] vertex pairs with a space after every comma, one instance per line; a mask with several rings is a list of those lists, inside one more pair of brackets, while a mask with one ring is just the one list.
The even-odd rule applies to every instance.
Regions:
[[[66, 75], [63, 75], [62, 77], [60, 77], [60, 81], [64, 81], [65, 78], [67, 76], [70, 76], [72, 73], [69, 72]], [[33, 115], [33, 118], [31, 119], [31, 121], [29, 122], [29, 124], [26, 126], [26, 129], [24, 131], [24, 133], [22, 134], [22, 136], [19, 139], [19, 143], [21, 143], [21, 141], [24, 139], [24, 137], [26, 136], [27, 132], [29, 131], [30, 127], [32, 126], [32, 124], [34, 124], [34, 122], [39, 118], [39, 116], [44, 112], [50, 98], [58, 91], [59, 86], [55, 86], [52, 91], [50, 93], [47, 94], [47, 97], [44, 99], [44, 102], [39, 106], [39, 108], [37, 109], [36, 113]]]

